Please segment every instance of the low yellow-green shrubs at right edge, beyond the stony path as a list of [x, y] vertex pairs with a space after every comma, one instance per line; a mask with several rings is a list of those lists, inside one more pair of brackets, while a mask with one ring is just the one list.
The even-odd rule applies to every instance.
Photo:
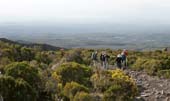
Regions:
[[[160, 75], [163, 71], [170, 69], [170, 53], [168, 52], [143, 52], [143, 56], [138, 56], [132, 64], [132, 69], [143, 70], [150, 75]], [[162, 71], [162, 72], [161, 72]], [[164, 76], [164, 75], [162, 75]], [[166, 78], [169, 78], [166, 73]]]

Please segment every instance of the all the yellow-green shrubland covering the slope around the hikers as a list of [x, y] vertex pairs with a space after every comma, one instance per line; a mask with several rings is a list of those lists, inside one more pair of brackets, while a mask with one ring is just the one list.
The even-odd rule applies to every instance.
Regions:
[[[121, 70], [91, 66], [93, 49], [49, 50], [0, 42], [0, 95], [4, 101], [129, 101], [138, 90]], [[97, 49], [98, 63], [104, 49]], [[122, 50], [105, 49], [115, 64]], [[128, 51], [128, 68], [170, 78], [170, 53]], [[94, 96], [93, 96], [94, 95]]]

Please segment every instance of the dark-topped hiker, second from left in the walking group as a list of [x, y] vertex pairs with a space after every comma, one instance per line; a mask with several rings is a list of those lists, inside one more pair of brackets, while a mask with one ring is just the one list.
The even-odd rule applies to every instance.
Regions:
[[102, 54], [100, 55], [102, 67], [105, 68], [105, 69], [107, 69], [109, 58], [110, 58], [110, 56], [107, 55], [106, 52], [102, 52]]

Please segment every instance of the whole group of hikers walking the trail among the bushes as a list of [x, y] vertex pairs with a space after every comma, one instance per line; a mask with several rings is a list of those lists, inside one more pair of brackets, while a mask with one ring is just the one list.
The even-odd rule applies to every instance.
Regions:
[[[120, 54], [117, 55], [116, 59], [115, 59], [115, 63], [116, 66], [119, 69], [125, 69], [127, 67], [127, 55], [128, 55], [128, 51], [126, 49], [124, 49]], [[106, 53], [106, 51], [103, 51], [100, 54], [100, 62], [101, 62], [101, 66], [105, 69], [108, 69], [110, 56]], [[93, 66], [97, 66], [98, 63], [98, 52], [94, 51], [91, 55], [91, 59], [93, 61]]]

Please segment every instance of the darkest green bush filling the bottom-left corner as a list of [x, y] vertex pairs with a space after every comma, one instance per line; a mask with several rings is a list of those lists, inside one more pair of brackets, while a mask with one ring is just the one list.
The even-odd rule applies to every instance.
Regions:
[[23, 79], [0, 76], [0, 95], [4, 101], [36, 101], [37, 93]]

